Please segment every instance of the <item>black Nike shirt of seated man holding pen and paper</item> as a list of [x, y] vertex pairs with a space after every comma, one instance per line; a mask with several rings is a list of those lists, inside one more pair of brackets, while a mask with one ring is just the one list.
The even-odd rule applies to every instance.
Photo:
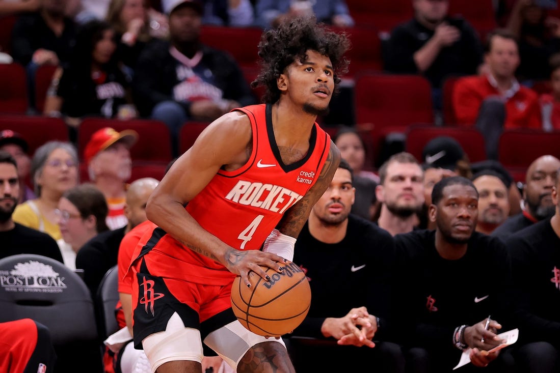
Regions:
[[452, 344], [456, 327], [491, 315], [506, 328], [510, 259], [499, 239], [474, 232], [464, 256], [447, 260], [436, 250], [435, 234], [395, 236], [396, 313], [404, 344], [449, 352], [458, 362], [460, 351]]

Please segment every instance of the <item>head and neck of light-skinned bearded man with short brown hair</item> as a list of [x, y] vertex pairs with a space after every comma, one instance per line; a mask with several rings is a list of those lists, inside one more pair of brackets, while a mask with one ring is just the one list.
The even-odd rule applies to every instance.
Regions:
[[375, 188], [381, 202], [377, 225], [391, 235], [407, 233], [418, 225], [417, 213], [424, 203], [424, 173], [410, 153], [392, 155], [379, 169], [379, 185]]

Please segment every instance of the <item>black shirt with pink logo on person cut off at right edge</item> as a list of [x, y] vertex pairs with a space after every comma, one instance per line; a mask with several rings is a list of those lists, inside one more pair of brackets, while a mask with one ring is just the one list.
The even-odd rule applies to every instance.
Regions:
[[520, 338], [559, 345], [560, 238], [550, 219], [511, 235], [506, 247], [519, 300], [516, 319]]

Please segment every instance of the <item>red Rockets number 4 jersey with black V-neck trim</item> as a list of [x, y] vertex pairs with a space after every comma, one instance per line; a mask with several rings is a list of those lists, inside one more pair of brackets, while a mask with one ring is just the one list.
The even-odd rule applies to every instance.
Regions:
[[[318, 180], [330, 137], [315, 123], [305, 157], [286, 165], [274, 138], [272, 106], [237, 110], [251, 121], [253, 150], [248, 162], [235, 171], [219, 171], [185, 208], [202, 228], [231, 247], [258, 250], [283, 214]], [[147, 245], [151, 243], [155, 243], [153, 249], [144, 246], [142, 253], [146, 253], [152, 275], [177, 278], [184, 273], [181, 278], [208, 285], [224, 284], [235, 277], [221, 263], [185, 248], [161, 230], [153, 232]]]

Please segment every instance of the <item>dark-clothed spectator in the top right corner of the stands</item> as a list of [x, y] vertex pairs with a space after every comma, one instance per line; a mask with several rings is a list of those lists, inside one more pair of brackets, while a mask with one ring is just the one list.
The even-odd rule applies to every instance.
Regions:
[[517, 68], [520, 81], [546, 79], [548, 60], [560, 50], [560, 20], [534, 0], [518, 0], [512, 9], [507, 29], [519, 43], [521, 62]]

